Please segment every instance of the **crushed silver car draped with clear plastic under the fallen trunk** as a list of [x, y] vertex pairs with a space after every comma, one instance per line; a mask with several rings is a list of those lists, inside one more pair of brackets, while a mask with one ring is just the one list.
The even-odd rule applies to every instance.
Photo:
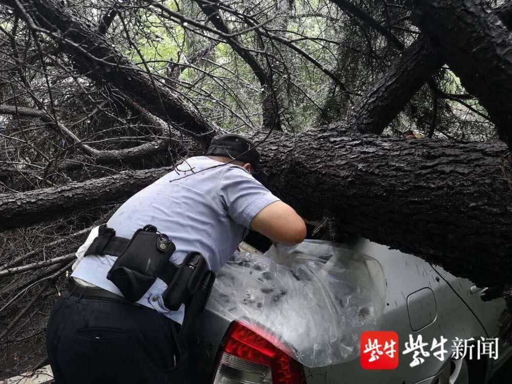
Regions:
[[[190, 382], [486, 383], [512, 349], [500, 337], [510, 326], [505, 301], [483, 302], [482, 292], [367, 239], [238, 253], [198, 321]], [[367, 330], [396, 332], [395, 369], [361, 367]], [[408, 351], [418, 337], [426, 346], [419, 357]], [[445, 353], [434, 356], [442, 339]], [[480, 342], [489, 352], [491, 340], [494, 355], [481, 353]]]

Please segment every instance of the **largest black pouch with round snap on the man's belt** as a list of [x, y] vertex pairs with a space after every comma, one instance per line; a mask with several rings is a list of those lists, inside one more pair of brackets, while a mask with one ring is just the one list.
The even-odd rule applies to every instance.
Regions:
[[136, 302], [168, 266], [175, 250], [174, 243], [165, 234], [137, 229], [106, 278], [115, 284], [126, 300]]

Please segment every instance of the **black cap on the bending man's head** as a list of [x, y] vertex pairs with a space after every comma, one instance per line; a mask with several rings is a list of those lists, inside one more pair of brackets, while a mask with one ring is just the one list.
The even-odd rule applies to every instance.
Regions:
[[206, 156], [224, 156], [249, 163], [253, 168], [260, 165], [260, 153], [254, 143], [241, 135], [227, 133], [211, 139]]

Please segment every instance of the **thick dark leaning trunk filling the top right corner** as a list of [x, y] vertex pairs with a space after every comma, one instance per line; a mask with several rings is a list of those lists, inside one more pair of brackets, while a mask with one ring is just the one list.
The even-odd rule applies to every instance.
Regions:
[[512, 35], [483, 0], [415, 0], [412, 21], [512, 146]]

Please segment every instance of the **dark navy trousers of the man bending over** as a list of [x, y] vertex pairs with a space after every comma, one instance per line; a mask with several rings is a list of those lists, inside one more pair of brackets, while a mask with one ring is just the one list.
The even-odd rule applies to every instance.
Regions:
[[150, 308], [66, 292], [46, 334], [56, 383], [174, 384], [177, 327]]

